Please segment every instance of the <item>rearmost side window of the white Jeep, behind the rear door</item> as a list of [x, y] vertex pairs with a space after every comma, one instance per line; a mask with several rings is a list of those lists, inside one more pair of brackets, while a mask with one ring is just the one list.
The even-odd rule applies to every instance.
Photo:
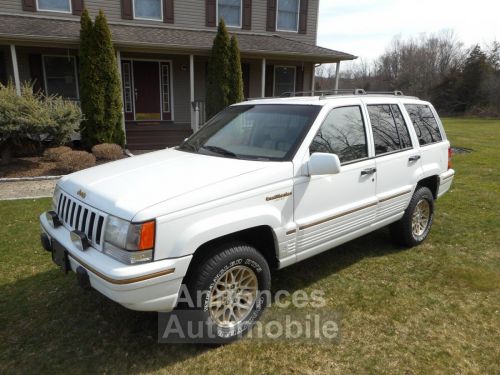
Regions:
[[405, 108], [415, 126], [415, 132], [417, 133], [420, 146], [443, 140], [439, 125], [429, 106], [422, 104], [405, 104]]

